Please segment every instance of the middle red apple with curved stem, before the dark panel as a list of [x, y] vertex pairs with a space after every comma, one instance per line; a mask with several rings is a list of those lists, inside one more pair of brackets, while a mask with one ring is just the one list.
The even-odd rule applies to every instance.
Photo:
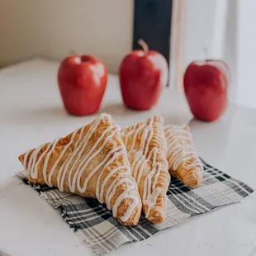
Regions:
[[134, 50], [122, 60], [119, 80], [126, 107], [146, 110], [154, 107], [168, 83], [168, 64], [159, 52], [149, 50], [143, 40], [139, 44], [143, 50]]

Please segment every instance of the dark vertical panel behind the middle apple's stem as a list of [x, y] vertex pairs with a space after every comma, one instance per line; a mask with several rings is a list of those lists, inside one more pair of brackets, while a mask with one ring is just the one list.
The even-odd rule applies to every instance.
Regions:
[[169, 64], [172, 7], [172, 0], [135, 0], [133, 50], [141, 49], [139, 39], [145, 40]]

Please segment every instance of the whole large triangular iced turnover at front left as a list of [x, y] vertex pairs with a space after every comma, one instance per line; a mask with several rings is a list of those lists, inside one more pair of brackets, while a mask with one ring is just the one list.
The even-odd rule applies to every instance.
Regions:
[[121, 128], [102, 114], [64, 138], [19, 157], [31, 183], [59, 187], [82, 197], [94, 197], [122, 225], [136, 225], [141, 201], [131, 176]]

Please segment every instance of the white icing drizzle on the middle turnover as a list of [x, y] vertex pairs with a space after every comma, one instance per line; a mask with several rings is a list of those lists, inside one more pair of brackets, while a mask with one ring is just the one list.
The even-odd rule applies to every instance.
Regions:
[[[125, 131], [122, 131], [121, 133], [121, 135], [124, 136], [124, 143], [126, 145], [128, 155], [134, 154], [134, 159], [130, 168], [131, 168], [132, 176], [133, 178], [135, 178], [135, 181], [137, 184], [140, 184], [140, 178], [143, 174], [145, 164], [148, 164], [149, 160], [152, 160], [152, 169], [147, 174], [145, 178], [145, 182], [143, 184], [144, 189], [143, 189], [142, 203], [143, 205], [148, 206], [147, 212], [145, 213], [146, 218], [149, 217], [150, 210], [152, 206], [156, 204], [157, 198], [159, 197], [159, 194], [162, 191], [160, 187], [156, 187], [156, 183], [158, 181], [159, 174], [162, 169], [162, 164], [156, 163], [156, 157], [159, 149], [157, 147], [154, 147], [149, 152], [149, 145], [154, 133], [153, 121], [154, 121], [154, 117], [150, 119], [148, 126], [144, 124], [144, 125], [141, 125], [136, 130], [131, 130], [130, 132], [127, 132], [127, 133], [125, 133]], [[140, 140], [140, 149], [135, 150], [134, 149], [135, 141], [138, 135], [140, 134], [141, 130], [143, 131], [142, 131], [142, 136]], [[132, 138], [131, 146], [129, 148], [127, 146], [127, 143], [130, 138], [130, 135], [132, 134], [133, 134], [133, 138]], [[152, 181], [153, 181], [153, 184], [152, 184]], [[163, 214], [164, 214], [164, 211], [163, 211]]]

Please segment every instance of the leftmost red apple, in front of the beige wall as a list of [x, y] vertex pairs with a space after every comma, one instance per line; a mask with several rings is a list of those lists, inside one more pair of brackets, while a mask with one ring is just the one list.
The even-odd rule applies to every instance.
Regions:
[[90, 115], [102, 102], [107, 69], [91, 55], [72, 55], [61, 62], [58, 83], [66, 111], [75, 116]]

